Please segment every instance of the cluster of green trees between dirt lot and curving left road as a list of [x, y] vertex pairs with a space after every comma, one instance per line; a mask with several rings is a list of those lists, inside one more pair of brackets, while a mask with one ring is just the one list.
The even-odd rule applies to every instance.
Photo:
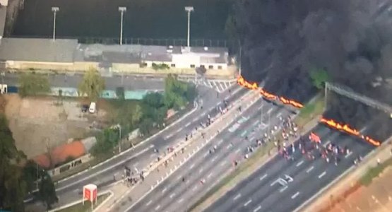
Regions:
[[[122, 94], [121, 94], [122, 93]], [[165, 126], [167, 110], [180, 110], [196, 98], [196, 87], [177, 79], [169, 74], [165, 78], [165, 92], [148, 93], [140, 102], [124, 100], [124, 89], [117, 88], [117, 104], [120, 105], [117, 116], [112, 124], [121, 126], [121, 134], [126, 135], [134, 129], [147, 136], [153, 128], [162, 129]], [[105, 154], [112, 151], [119, 142], [119, 127], [105, 129], [97, 136], [97, 144], [93, 155]]]

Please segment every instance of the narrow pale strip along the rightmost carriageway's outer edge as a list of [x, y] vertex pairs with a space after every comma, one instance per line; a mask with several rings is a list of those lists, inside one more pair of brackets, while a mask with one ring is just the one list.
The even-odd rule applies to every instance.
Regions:
[[359, 166], [351, 167], [346, 170], [342, 175], [337, 177], [331, 184], [328, 184], [324, 189], [321, 189], [319, 193], [309, 199], [307, 202], [299, 206], [296, 211], [321, 211], [328, 204], [331, 203], [332, 197], [340, 197], [352, 187], [355, 187], [356, 182], [367, 173], [369, 168], [377, 165], [379, 159], [381, 163], [391, 158], [391, 141], [389, 138], [387, 141], [374, 151], [369, 153]]

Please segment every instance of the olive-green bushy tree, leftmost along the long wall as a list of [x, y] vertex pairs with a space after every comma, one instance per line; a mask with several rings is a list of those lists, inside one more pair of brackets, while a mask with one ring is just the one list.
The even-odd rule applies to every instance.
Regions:
[[50, 91], [47, 77], [35, 73], [23, 73], [19, 77], [19, 95], [39, 95]]

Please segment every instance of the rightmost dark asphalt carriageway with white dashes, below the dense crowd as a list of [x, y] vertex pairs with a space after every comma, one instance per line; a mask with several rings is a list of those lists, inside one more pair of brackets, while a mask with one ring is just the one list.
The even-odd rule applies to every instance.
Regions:
[[[338, 165], [335, 165], [334, 160], [327, 163], [319, 155], [316, 155], [314, 160], [308, 159], [300, 151], [293, 154], [292, 161], [286, 160], [282, 155], [276, 155], [206, 211], [294, 211], [354, 165], [355, 158], [359, 158], [360, 155], [363, 157], [374, 149], [374, 146], [366, 141], [321, 124], [312, 131], [319, 134], [323, 145], [332, 142], [340, 147], [348, 146], [351, 153], [341, 155]], [[298, 146], [298, 142], [296, 141], [295, 146]], [[285, 175], [293, 179], [287, 186], [274, 183], [280, 177], [285, 179]]]

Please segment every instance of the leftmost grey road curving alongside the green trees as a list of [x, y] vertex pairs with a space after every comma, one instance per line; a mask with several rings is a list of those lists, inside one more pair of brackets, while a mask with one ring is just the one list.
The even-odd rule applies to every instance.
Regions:
[[154, 149], [165, 151], [167, 147], [173, 146], [174, 143], [185, 139], [185, 135], [193, 131], [196, 126], [200, 126], [201, 122], [206, 122], [208, 114], [214, 117], [218, 114], [217, 105], [223, 106], [222, 100], [226, 99], [227, 102], [234, 102], [247, 93], [248, 90], [244, 88], [233, 88], [232, 93], [222, 93], [219, 98], [216, 97], [215, 92], [210, 92], [207, 88], [200, 89], [201, 99], [203, 100], [203, 109], [198, 107], [198, 110], [183, 119], [182, 121], [174, 124], [169, 129], [162, 132], [162, 134], [155, 136], [148, 142], [134, 148], [132, 151], [119, 155], [117, 158], [109, 160], [98, 167], [92, 167], [90, 170], [81, 172], [80, 175], [73, 175], [66, 180], [56, 184], [57, 195], [60, 199], [60, 204], [65, 204], [70, 201], [78, 199], [80, 196], [75, 195], [81, 192], [83, 185], [93, 183], [97, 184], [99, 189], [104, 189], [107, 184], [114, 182], [114, 176], [119, 180], [124, 172], [124, 166], [136, 167], [142, 170], [151, 161], [155, 160], [158, 156], [154, 153]]

